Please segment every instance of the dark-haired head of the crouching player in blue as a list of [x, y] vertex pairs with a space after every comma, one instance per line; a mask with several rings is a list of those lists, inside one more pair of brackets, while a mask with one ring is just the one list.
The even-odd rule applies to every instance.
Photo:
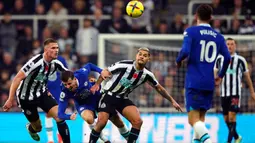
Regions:
[[75, 91], [78, 88], [77, 80], [74, 77], [72, 71], [63, 71], [61, 72], [61, 81], [62, 84], [70, 91]]

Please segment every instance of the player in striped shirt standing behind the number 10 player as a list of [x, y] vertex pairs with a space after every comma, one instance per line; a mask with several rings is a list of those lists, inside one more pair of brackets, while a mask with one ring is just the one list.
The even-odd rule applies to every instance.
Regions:
[[[232, 38], [228, 38], [226, 43], [232, 60], [228, 66], [226, 75], [222, 80], [221, 88], [219, 86], [216, 88], [216, 94], [220, 96], [221, 89], [221, 105], [224, 120], [229, 129], [228, 143], [231, 142], [233, 137], [235, 138], [235, 143], [240, 143], [242, 137], [239, 136], [236, 131], [236, 113], [240, 107], [242, 75], [244, 75], [246, 79], [253, 99], [255, 99], [255, 93], [248, 71], [247, 62], [244, 57], [236, 53], [236, 41]], [[223, 61], [223, 56], [218, 56], [214, 67], [215, 74], [217, 74], [219, 69], [221, 69]]]

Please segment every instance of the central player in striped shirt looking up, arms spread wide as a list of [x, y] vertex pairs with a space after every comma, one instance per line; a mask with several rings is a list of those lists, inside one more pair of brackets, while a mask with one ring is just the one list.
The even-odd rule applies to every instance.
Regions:
[[142, 126], [142, 119], [137, 107], [128, 98], [131, 93], [139, 85], [148, 82], [154, 87], [164, 98], [169, 100], [173, 106], [182, 111], [178, 103], [169, 95], [169, 93], [162, 87], [154, 74], [145, 68], [146, 63], [150, 60], [150, 52], [148, 48], [138, 49], [136, 60], [119, 61], [112, 66], [105, 69], [105, 75], [97, 80], [96, 84], [90, 89], [95, 93], [100, 88], [100, 83], [103, 81], [102, 77], [110, 77], [103, 87], [103, 95], [98, 105], [98, 121], [90, 134], [89, 143], [96, 143], [98, 137], [105, 127], [109, 115], [115, 110], [120, 112], [132, 124], [132, 129], [128, 137], [128, 143], [135, 143]]

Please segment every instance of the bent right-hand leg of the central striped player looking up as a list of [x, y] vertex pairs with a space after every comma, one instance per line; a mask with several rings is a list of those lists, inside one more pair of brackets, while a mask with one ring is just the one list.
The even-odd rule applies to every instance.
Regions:
[[138, 108], [129, 99], [118, 102], [117, 110], [131, 123], [132, 128], [128, 137], [128, 143], [134, 143], [138, 139], [143, 120]]

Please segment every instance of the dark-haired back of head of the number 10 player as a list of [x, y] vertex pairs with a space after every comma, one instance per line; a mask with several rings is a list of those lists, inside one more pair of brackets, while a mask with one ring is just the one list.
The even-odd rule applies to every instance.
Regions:
[[196, 18], [198, 21], [209, 23], [212, 19], [213, 9], [208, 4], [201, 4], [196, 10]]

